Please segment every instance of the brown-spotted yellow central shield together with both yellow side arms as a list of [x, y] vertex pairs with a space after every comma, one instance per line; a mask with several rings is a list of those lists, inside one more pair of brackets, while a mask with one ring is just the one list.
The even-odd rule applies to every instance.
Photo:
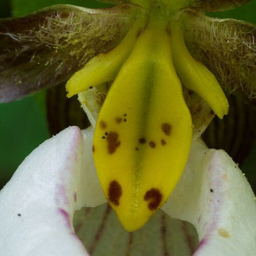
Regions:
[[128, 231], [164, 204], [188, 158], [193, 124], [176, 69], [220, 118], [228, 111], [215, 76], [189, 54], [175, 22], [171, 35], [161, 19], [149, 20], [139, 35], [140, 24], [67, 83], [71, 97], [114, 80], [98, 116], [93, 152], [105, 197]]

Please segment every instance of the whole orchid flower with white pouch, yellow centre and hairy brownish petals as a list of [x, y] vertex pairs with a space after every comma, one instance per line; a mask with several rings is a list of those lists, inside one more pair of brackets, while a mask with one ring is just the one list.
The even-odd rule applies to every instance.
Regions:
[[[148, 255], [255, 254], [250, 185], [224, 151], [200, 139], [214, 113], [228, 113], [223, 89], [255, 94], [255, 27], [201, 11], [247, 1], [112, 2], [119, 5], [58, 5], [0, 23], [1, 101], [69, 79], [67, 96], [78, 94], [91, 122], [42, 143], [1, 190], [1, 253], [137, 255], [138, 236]], [[139, 230], [112, 221], [103, 239], [106, 207], [87, 223], [77, 214], [74, 232], [76, 210], [107, 201], [124, 229]], [[196, 227], [196, 249], [193, 229], [160, 208]], [[170, 233], [168, 225], [178, 227]], [[85, 248], [77, 234], [86, 232]]]

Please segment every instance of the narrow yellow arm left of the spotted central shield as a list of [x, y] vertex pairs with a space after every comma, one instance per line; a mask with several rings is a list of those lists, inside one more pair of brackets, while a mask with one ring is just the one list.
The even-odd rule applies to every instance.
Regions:
[[101, 53], [77, 71], [67, 82], [67, 97], [86, 91], [89, 87], [115, 79], [120, 67], [131, 54], [140, 30], [144, 26], [143, 17], [138, 17], [122, 42], [107, 53]]

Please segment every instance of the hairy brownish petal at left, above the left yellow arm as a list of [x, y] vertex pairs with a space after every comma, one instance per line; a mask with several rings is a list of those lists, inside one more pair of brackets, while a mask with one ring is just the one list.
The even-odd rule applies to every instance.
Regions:
[[119, 44], [137, 7], [56, 5], [0, 21], [0, 102], [67, 81], [95, 55]]

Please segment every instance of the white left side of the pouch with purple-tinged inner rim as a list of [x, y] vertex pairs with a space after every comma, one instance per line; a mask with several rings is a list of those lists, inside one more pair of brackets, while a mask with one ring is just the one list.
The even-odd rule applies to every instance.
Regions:
[[42, 143], [1, 190], [0, 255], [87, 255], [72, 225], [75, 209], [90, 205], [81, 197], [90, 178], [81, 166], [92, 163], [84, 136], [86, 148], [75, 126]]

